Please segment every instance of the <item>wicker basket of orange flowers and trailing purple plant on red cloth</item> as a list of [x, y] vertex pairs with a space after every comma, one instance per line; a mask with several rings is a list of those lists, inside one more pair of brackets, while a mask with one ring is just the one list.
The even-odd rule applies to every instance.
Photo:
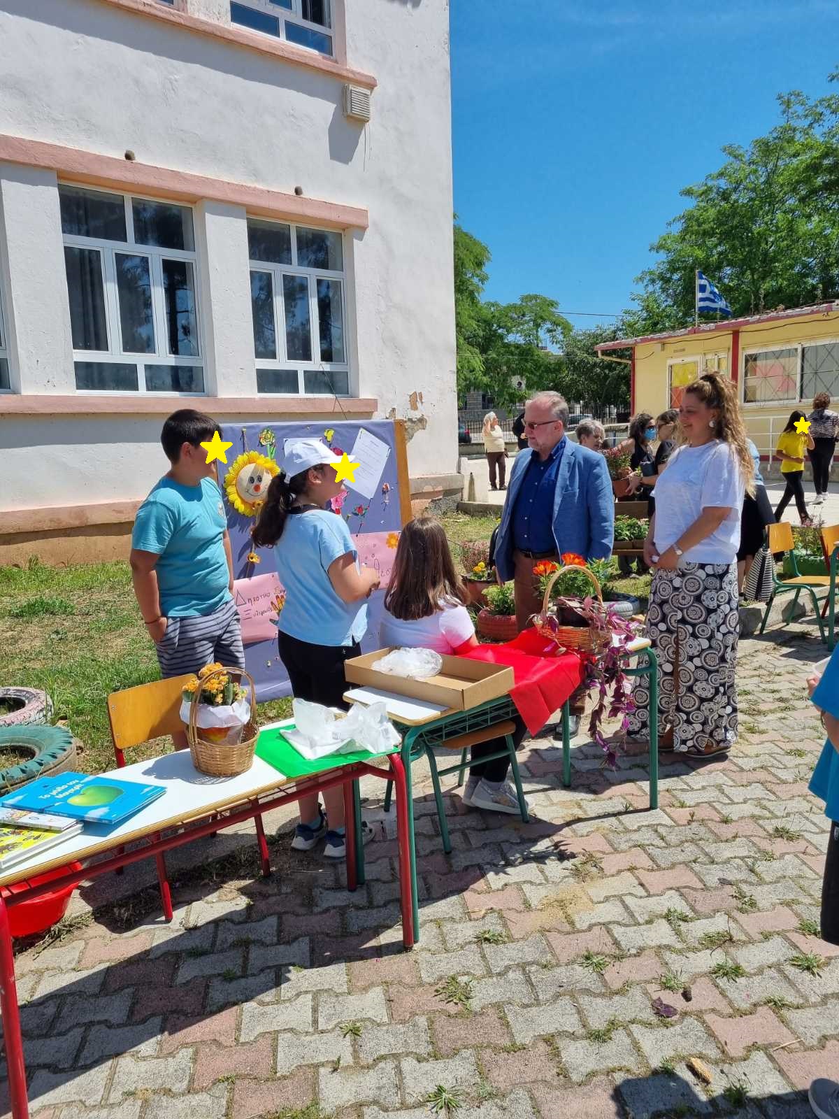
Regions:
[[[602, 747], [605, 763], [614, 768], [621, 742], [606, 742], [602, 724], [604, 718], [620, 715], [621, 732], [625, 737], [629, 714], [634, 709], [631, 684], [623, 670], [628, 659], [625, 647], [637, 637], [638, 630], [597, 594], [600, 589], [592, 577], [594, 572], [591, 565], [609, 561], [592, 561], [586, 564], [582, 556], [572, 553], [565, 553], [560, 560], [565, 568], [572, 570], [553, 565], [555, 571], [544, 571], [538, 575], [544, 581], [540, 582], [544, 586], [544, 604], [534, 623], [539, 633], [550, 638], [560, 649], [571, 649], [579, 655], [585, 668], [586, 685], [590, 690], [595, 692], [588, 733], [592, 741]], [[536, 572], [536, 567], [534, 571]], [[557, 587], [560, 592], [571, 587], [575, 593], [559, 593], [554, 598]], [[585, 631], [585, 634], [579, 631]]]

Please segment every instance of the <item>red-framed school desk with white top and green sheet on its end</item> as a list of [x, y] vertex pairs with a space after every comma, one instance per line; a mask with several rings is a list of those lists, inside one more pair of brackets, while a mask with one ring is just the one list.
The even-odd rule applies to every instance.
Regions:
[[[282, 730], [283, 723], [276, 726]], [[317, 762], [307, 761], [293, 746], [272, 735], [274, 727], [264, 728], [257, 740], [257, 756], [245, 773], [213, 778], [199, 773], [189, 751], [181, 750], [133, 765], [103, 773], [102, 777], [135, 780], [143, 784], [160, 784], [166, 789], [141, 811], [112, 827], [85, 826], [84, 831], [40, 855], [37, 853], [16, 867], [0, 872], [0, 1014], [6, 1042], [9, 1094], [12, 1119], [29, 1119], [23, 1044], [20, 1033], [15, 958], [9, 927], [9, 910], [22, 902], [63, 886], [75, 886], [111, 871], [145, 858], [162, 856], [167, 850], [191, 843], [224, 828], [242, 824], [273, 808], [299, 800], [308, 792], [343, 788], [347, 809], [347, 887], [355, 890], [364, 881], [362, 866], [357, 863], [360, 844], [356, 841], [358, 820], [358, 780], [377, 777], [396, 783], [396, 827], [399, 853], [399, 888], [402, 934], [406, 949], [413, 946], [412, 905], [409, 897], [411, 868], [408, 849], [413, 850], [408, 831], [408, 797], [405, 771], [397, 747], [383, 754], [332, 754]], [[260, 754], [271, 758], [271, 763]], [[366, 760], [361, 760], [361, 759]], [[381, 767], [371, 764], [379, 761]], [[126, 849], [126, 845], [135, 845]], [[82, 866], [87, 859], [98, 862]], [[48, 871], [66, 873], [48, 882], [31, 884], [32, 878]], [[265, 873], [263, 871], [263, 873]], [[22, 886], [22, 888], [21, 888]], [[67, 1073], [72, 1078], [72, 1072]]]

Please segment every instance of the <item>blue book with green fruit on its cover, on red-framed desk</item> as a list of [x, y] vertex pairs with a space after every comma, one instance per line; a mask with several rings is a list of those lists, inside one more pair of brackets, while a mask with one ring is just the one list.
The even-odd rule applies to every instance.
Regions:
[[0, 797], [0, 809], [25, 808], [30, 812], [69, 816], [85, 824], [119, 824], [162, 797], [164, 791], [159, 784], [140, 784], [113, 777], [57, 773]]

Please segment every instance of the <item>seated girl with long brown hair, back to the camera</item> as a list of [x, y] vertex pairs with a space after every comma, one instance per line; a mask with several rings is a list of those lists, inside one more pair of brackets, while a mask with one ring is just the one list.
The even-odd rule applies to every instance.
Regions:
[[[478, 639], [464, 601], [465, 593], [454, 570], [443, 526], [432, 517], [408, 521], [399, 536], [385, 596], [379, 630], [381, 643], [434, 649], [455, 656], [474, 648]], [[518, 750], [525, 737], [525, 724], [518, 716], [512, 737]], [[501, 737], [471, 747], [463, 802], [471, 808], [518, 816], [516, 790], [507, 781], [507, 758], [481, 761], [503, 746]]]

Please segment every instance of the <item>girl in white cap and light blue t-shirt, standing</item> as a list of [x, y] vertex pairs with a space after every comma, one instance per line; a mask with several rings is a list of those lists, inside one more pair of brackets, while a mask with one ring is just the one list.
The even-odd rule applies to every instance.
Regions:
[[[346, 708], [343, 662], [361, 651], [358, 642], [367, 629], [366, 600], [379, 585], [379, 576], [359, 565], [346, 521], [324, 508], [343, 489], [336, 481], [337, 464], [320, 440], [287, 443], [283, 470], [268, 487], [253, 540], [256, 547], [274, 548], [277, 575], [285, 587], [279, 641], [292, 694]], [[300, 798], [292, 847], [311, 850], [326, 835], [323, 854], [342, 858], [343, 791], [329, 789], [323, 799], [326, 816], [317, 792]], [[366, 825], [365, 830], [367, 837]]]

